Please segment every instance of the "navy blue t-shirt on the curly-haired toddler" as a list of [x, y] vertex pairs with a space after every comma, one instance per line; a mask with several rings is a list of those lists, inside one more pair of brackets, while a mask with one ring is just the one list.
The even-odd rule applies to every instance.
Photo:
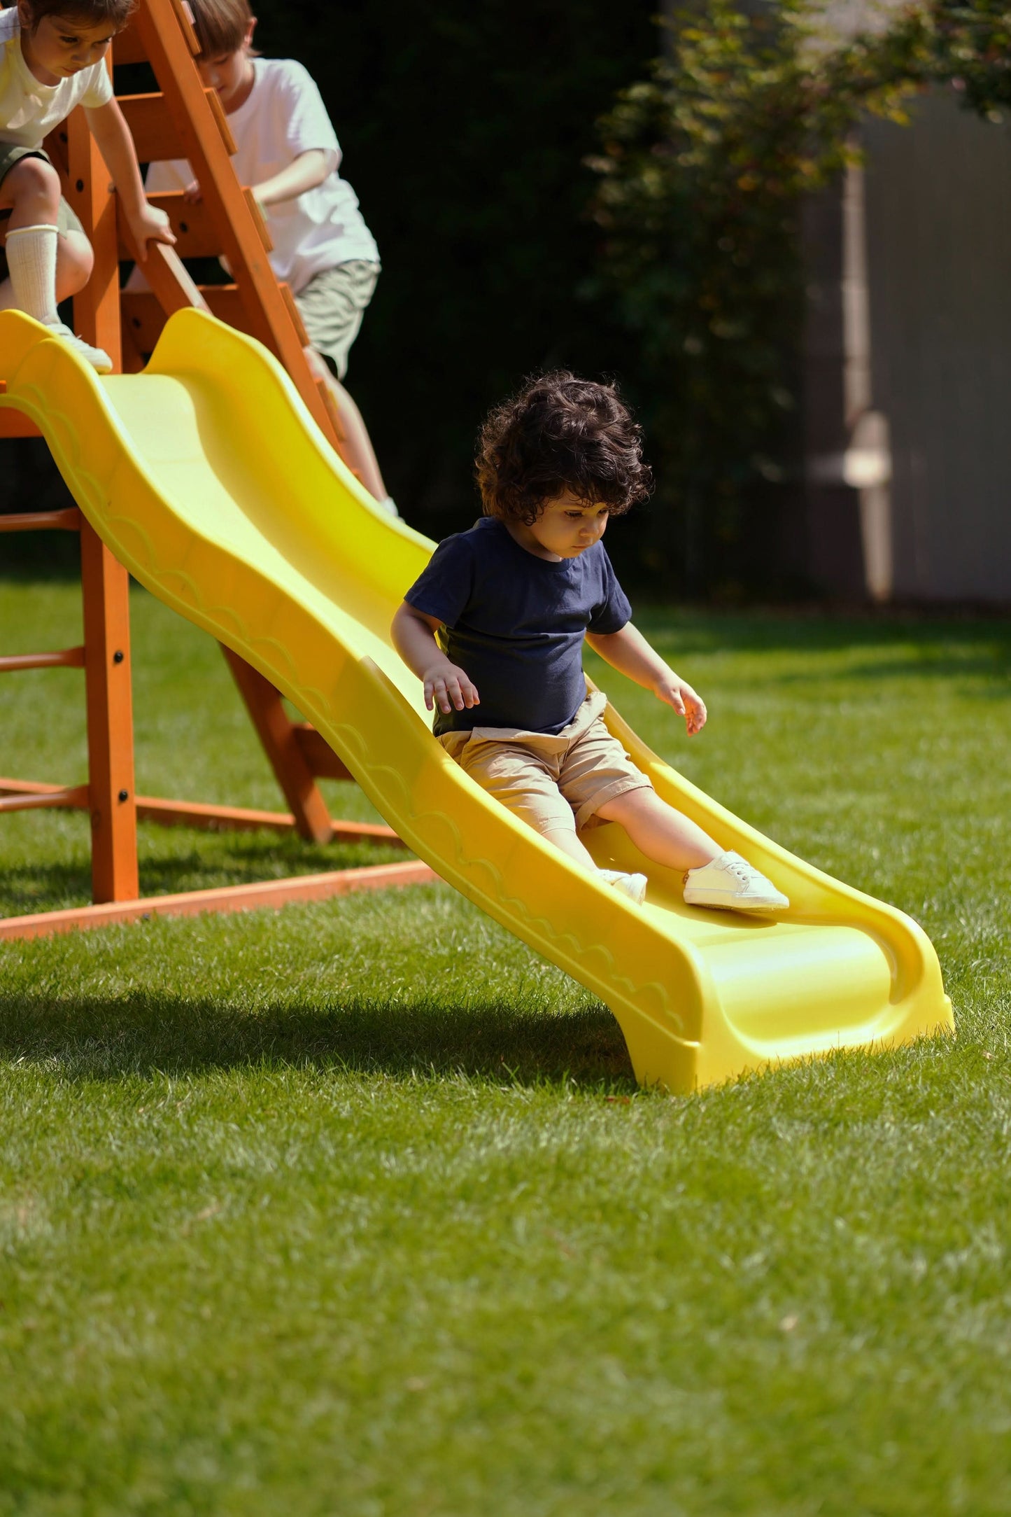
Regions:
[[405, 599], [446, 623], [446, 652], [480, 696], [470, 711], [437, 708], [437, 737], [471, 727], [561, 733], [587, 698], [585, 633], [618, 633], [632, 616], [603, 543], [552, 563], [494, 516], [440, 543]]

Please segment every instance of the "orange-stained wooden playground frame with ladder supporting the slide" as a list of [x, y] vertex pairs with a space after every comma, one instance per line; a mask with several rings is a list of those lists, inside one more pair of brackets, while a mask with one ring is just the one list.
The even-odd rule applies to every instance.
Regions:
[[[230, 164], [235, 144], [214, 90], [205, 90], [196, 65], [199, 42], [183, 0], [139, 0], [129, 26], [115, 39], [115, 62], [149, 62], [159, 90], [118, 96], [141, 162], [188, 158], [200, 181], [202, 200], [182, 194], [153, 196], [170, 215], [176, 249], [150, 243], [144, 273], [149, 291], [120, 288], [120, 259], [135, 258], [118, 202], [109, 185], [83, 111], [77, 109], [47, 138], [47, 150], [64, 179], [67, 199], [91, 240], [95, 265], [74, 297], [74, 326], [112, 356], [117, 372], [144, 367], [168, 316], [183, 306], [209, 309], [259, 338], [288, 370], [324, 435], [343, 452], [340, 417], [329, 390], [305, 356], [306, 334], [286, 285], [268, 261], [270, 237], [249, 190]], [[109, 68], [112, 59], [109, 59]], [[199, 287], [182, 258], [224, 253], [232, 284]], [[36, 437], [36, 428], [14, 410], [0, 410], [0, 437]], [[71, 531], [80, 536], [83, 643], [53, 652], [0, 657], [0, 674], [23, 669], [77, 667], [85, 674], [88, 783], [42, 784], [0, 778], [0, 813], [62, 807], [91, 813], [92, 904], [62, 912], [0, 919], [0, 941], [38, 938], [79, 927], [136, 921], [152, 915], [192, 915], [279, 907], [352, 890], [418, 884], [435, 875], [420, 860], [338, 869], [256, 884], [182, 895], [139, 895], [136, 821], [200, 828], [273, 828], [297, 831], [317, 843], [373, 839], [400, 842], [390, 827], [343, 822], [329, 816], [317, 778], [352, 780], [338, 755], [308, 722], [293, 722], [280, 693], [230, 649], [223, 649], [256, 734], [267, 752], [288, 812], [258, 812], [192, 801], [138, 796], [133, 787], [133, 716], [130, 680], [129, 575], [97, 532], [73, 507], [0, 516], [0, 532]]]

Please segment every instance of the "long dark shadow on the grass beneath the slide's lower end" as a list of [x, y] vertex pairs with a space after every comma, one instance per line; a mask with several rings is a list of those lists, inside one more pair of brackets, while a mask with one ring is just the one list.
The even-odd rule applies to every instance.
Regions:
[[499, 1001], [447, 1006], [424, 995], [256, 1012], [174, 995], [0, 995], [0, 1059], [44, 1063], [70, 1080], [286, 1066], [635, 1088], [605, 1006], [555, 1015]]

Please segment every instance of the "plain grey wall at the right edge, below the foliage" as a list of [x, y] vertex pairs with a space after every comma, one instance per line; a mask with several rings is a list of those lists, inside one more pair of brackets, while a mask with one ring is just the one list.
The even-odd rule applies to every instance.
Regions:
[[864, 129], [872, 405], [893, 596], [1011, 602], [1011, 126], [923, 99]]

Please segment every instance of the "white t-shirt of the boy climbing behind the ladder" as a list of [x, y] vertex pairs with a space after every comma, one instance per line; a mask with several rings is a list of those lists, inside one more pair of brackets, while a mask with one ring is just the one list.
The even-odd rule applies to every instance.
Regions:
[[[315, 190], [264, 206], [274, 244], [271, 269], [297, 294], [323, 269], [353, 258], [377, 264], [379, 249], [358, 196], [336, 171], [340, 143], [311, 74], [291, 58], [255, 58], [249, 97], [227, 118], [238, 144], [232, 162], [239, 184], [262, 184], [312, 147], [333, 155], [333, 171]], [[147, 193], [185, 190], [192, 179], [185, 158], [152, 164]]]

